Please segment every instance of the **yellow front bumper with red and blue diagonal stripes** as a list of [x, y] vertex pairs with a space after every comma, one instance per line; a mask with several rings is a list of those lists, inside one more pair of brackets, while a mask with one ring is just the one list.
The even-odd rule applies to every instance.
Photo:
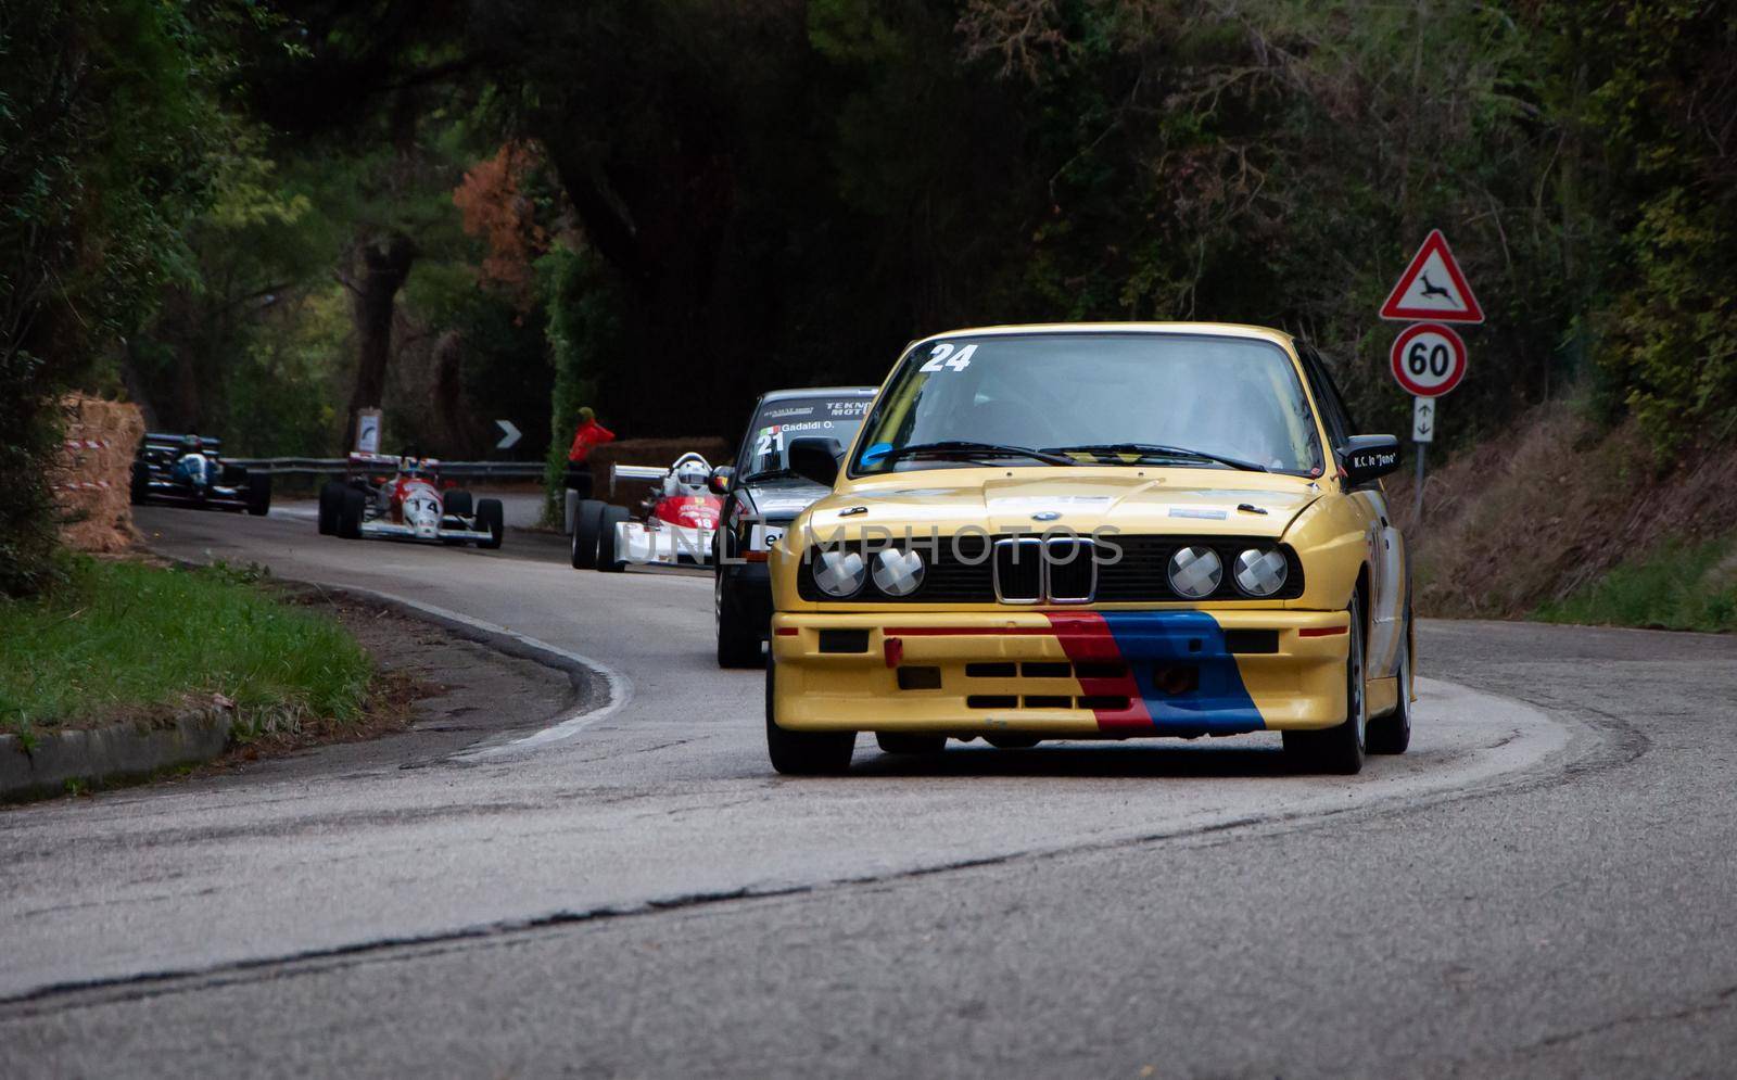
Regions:
[[1240, 734], [1344, 721], [1344, 611], [778, 613], [792, 731]]

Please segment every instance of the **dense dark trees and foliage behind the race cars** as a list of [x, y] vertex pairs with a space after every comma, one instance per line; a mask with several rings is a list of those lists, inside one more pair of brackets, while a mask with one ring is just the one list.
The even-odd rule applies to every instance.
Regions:
[[63, 297], [7, 278], [43, 319], [5, 342], [19, 417], [96, 359], [248, 450], [337, 450], [380, 398], [393, 443], [507, 417], [556, 462], [580, 399], [733, 434], [954, 325], [1212, 318], [1306, 333], [1391, 429], [1374, 313], [1440, 226], [1489, 313], [1450, 443], [1567, 396], [1668, 453], [1737, 431], [1730, 5], [5, 10], [3, 264]]

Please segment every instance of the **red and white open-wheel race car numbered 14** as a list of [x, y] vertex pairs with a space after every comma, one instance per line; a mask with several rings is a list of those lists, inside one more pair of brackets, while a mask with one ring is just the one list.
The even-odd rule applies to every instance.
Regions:
[[499, 498], [441, 486], [439, 462], [417, 455], [351, 453], [349, 474], [320, 490], [325, 537], [394, 537], [497, 549], [505, 531]]

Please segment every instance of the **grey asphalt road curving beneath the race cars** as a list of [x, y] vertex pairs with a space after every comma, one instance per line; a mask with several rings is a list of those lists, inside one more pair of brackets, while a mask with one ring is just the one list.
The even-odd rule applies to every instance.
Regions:
[[457, 757], [0, 814], [0, 1075], [1732, 1075], [1737, 641], [1426, 623], [1414, 750], [764, 759], [709, 580], [148, 510], [608, 672]]

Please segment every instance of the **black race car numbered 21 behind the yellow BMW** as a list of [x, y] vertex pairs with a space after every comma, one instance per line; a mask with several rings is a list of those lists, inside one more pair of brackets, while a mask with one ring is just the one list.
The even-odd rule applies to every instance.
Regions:
[[785, 460], [790, 439], [835, 439], [842, 455], [874, 396], [872, 385], [763, 394], [754, 403], [754, 420], [736, 464], [714, 472], [712, 484], [724, 497], [714, 540], [717, 557], [712, 559], [719, 667], [763, 663], [761, 644], [771, 623], [766, 552], [797, 514], [827, 493], [827, 488], [790, 471]]

